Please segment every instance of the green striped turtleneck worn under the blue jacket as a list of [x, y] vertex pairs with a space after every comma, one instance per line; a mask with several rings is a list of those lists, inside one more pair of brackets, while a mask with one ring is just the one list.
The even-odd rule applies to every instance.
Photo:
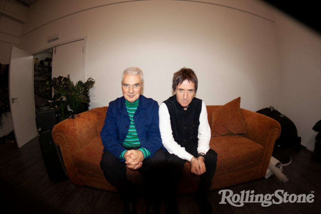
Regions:
[[[135, 124], [134, 124], [134, 114], [135, 114], [135, 112], [137, 110], [138, 103], [139, 103], [139, 99], [137, 99], [133, 103], [130, 103], [125, 99], [125, 105], [126, 105], [127, 113], [128, 113], [129, 118], [130, 118], [129, 130], [128, 130], [126, 139], [123, 142], [123, 146], [126, 146], [126, 147], [138, 147], [138, 146], [141, 146], [141, 143], [140, 143], [140, 141], [138, 139], [138, 136], [137, 136]], [[146, 158], [147, 156], [149, 156], [151, 154], [145, 148], [139, 148], [138, 150], [143, 152], [144, 158]], [[124, 154], [125, 154], [126, 151], [127, 150], [124, 150], [120, 154], [120, 158], [124, 158]]]

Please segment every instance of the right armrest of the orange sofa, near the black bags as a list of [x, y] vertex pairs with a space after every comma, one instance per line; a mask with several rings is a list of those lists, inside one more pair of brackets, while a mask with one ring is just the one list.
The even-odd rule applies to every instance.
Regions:
[[247, 133], [241, 134], [264, 147], [264, 157], [259, 177], [266, 174], [275, 141], [280, 137], [281, 125], [274, 119], [246, 109], [241, 109]]

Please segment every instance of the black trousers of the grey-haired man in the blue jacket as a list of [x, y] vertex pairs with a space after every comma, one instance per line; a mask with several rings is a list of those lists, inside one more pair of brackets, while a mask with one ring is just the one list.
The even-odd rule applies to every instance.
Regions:
[[[165, 152], [163, 149], [159, 149], [151, 158], [144, 159], [142, 167], [138, 169], [145, 183], [148, 194], [147, 199], [151, 203], [162, 197], [164, 192], [164, 188], [160, 184], [163, 184], [165, 167]], [[136, 191], [134, 184], [127, 179], [125, 162], [121, 162], [108, 150], [105, 150], [101, 157], [100, 168], [104, 172], [106, 180], [116, 187], [124, 200], [134, 200], [133, 195], [135, 195]]]

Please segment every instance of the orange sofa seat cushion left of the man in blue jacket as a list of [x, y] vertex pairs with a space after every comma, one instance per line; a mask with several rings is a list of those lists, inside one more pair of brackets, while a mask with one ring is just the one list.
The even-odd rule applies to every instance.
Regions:
[[103, 145], [100, 136], [94, 138], [88, 145], [74, 154], [74, 165], [79, 169], [86, 169], [87, 172], [102, 175], [100, 160], [103, 153]]

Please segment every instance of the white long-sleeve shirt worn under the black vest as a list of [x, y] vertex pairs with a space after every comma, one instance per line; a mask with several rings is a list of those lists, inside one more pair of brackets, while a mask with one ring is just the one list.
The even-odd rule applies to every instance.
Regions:
[[[159, 107], [159, 120], [160, 120], [160, 135], [164, 147], [170, 154], [175, 154], [179, 158], [185, 159], [188, 162], [192, 159], [193, 155], [188, 153], [184, 147], [181, 147], [173, 137], [173, 132], [170, 124], [170, 116], [168, 108], [165, 103], [161, 103]], [[197, 152], [206, 152], [210, 149], [211, 129], [208, 124], [207, 110], [205, 103], [202, 101], [202, 110], [199, 118], [200, 124], [198, 126], [198, 146]]]

